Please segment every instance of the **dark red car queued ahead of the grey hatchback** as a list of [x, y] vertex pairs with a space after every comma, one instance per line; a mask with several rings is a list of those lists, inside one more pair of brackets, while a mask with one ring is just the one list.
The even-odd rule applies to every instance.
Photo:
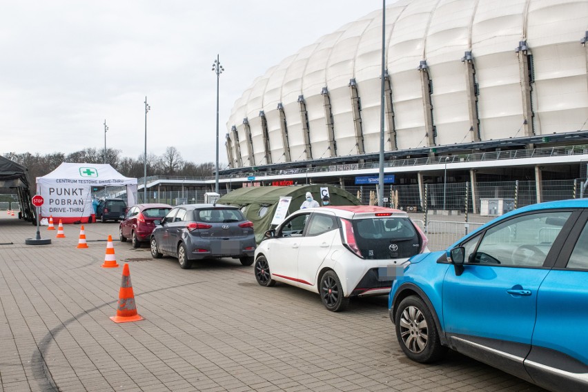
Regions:
[[136, 204], [128, 209], [119, 226], [121, 242], [130, 238], [133, 248], [139, 248], [141, 242], [149, 242], [155, 224], [170, 212], [169, 204]]

